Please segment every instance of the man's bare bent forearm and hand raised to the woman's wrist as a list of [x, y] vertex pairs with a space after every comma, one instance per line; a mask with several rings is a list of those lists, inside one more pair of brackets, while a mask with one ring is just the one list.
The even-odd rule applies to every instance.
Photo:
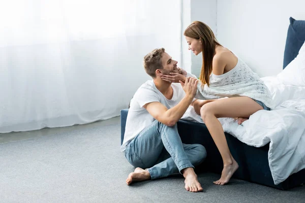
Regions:
[[173, 108], [167, 109], [163, 104], [159, 102], [152, 102], [144, 105], [143, 107], [153, 116], [156, 120], [161, 123], [173, 126], [178, 120], [185, 114], [189, 106], [191, 105], [195, 92], [197, 90], [196, 79], [187, 79], [184, 85], [186, 95], [181, 101]]

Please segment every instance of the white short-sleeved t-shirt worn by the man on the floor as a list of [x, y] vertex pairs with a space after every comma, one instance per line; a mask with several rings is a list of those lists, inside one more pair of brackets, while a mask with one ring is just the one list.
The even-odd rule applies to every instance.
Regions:
[[128, 111], [124, 141], [120, 150], [125, 151], [125, 147], [132, 141], [143, 129], [151, 125], [155, 118], [151, 116], [148, 111], [143, 108], [145, 104], [157, 101], [170, 109], [176, 106], [186, 93], [180, 83], [172, 83], [173, 97], [167, 99], [156, 87], [153, 80], [146, 81], [134, 94], [130, 102], [130, 109]]

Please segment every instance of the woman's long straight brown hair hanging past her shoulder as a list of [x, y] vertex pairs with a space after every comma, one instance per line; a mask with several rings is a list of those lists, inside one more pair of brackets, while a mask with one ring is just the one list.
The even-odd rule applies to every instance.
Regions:
[[215, 54], [215, 46], [221, 45], [216, 40], [215, 35], [209, 26], [200, 21], [194, 21], [192, 24], [190, 24], [186, 28], [184, 36], [201, 41], [202, 67], [199, 80], [202, 82], [202, 84], [207, 84], [209, 86], [209, 76], [212, 73], [212, 62]]

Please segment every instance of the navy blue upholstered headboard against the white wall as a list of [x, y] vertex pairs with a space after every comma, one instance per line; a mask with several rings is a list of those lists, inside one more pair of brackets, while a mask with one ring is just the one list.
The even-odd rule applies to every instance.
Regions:
[[297, 56], [305, 41], [305, 20], [295, 20], [292, 17], [289, 20], [283, 69]]

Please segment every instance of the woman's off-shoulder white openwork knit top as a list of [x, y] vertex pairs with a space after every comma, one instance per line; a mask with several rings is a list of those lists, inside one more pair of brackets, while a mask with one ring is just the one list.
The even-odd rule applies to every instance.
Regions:
[[[238, 58], [238, 57], [237, 57]], [[210, 75], [209, 87], [198, 83], [198, 99], [248, 96], [273, 109], [271, 93], [259, 76], [238, 58], [236, 66], [223, 75]]]

